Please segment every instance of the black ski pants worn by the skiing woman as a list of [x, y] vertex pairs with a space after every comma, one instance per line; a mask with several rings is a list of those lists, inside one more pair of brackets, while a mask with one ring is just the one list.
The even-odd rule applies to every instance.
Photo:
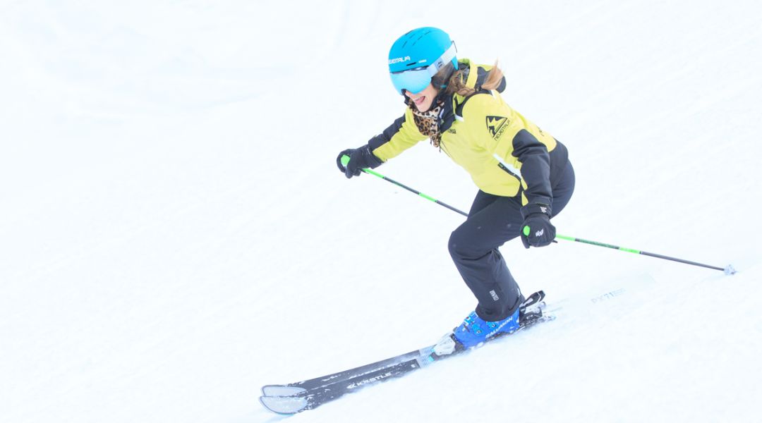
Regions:
[[[574, 192], [575, 173], [571, 163], [552, 186], [552, 215], [559, 212]], [[488, 322], [511, 316], [523, 301], [521, 291], [498, 247], [519, 236], [521, 195], [493, 196], [479, 190], [469, 217], [450, 235], [450, 256], [463, 281], [479, 304], [476, 314]]]

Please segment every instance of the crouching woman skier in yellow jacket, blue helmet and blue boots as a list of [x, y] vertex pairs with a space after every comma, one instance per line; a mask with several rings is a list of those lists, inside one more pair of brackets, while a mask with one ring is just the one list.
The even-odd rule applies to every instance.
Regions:
[[389, 75], [405, 115], [366, 145], [341, 151], [338, 168], [356, 177], [429, 138], [470, 173], [479, 192], [448, 247], [478, 304], [453, 337], [470, 348], [513, 332], [523, 295], [498, 247], [516, 237], [526, 248], [553, 242], [550, 218], [575, 186], [566, 147], [504, 103], [497, 65], [457, 59], [443, 30], [422, 27], [399, 37], [389, 50]]

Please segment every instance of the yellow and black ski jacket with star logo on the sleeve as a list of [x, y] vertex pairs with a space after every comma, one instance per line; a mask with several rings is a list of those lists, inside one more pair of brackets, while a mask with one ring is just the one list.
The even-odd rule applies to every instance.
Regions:
[[[505, 80], [496, 91], [482, 89], [491, 66], [461, 59], [459, 68], [468, 69], [466, 85], [476, 92], [445, 100], [439, 118], [442, 151], [482, 191], [495, 196], [521, 194], [523, 205], [550, 205], [552, 186], [568, 162], [565, 146], [503, 101]], [[427, 136], [415, 126], [408, 107], [405, 116], [371, 138], [368, 147], [385, 162], [424, 139]]]

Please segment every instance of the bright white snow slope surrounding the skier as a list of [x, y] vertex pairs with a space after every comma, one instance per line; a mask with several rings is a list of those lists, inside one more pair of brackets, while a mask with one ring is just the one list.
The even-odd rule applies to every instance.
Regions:
[[[259, 389], [435, 342], [462, 217], [335, 168], [402, 113], [399, 34], [500, 59], [568, 145], [553, 323], [290, 421], [762, 421], [762, 5], [0, 3], [0, 421], [280, 421]], [[378, 169], [458, 208], [421, 143]], [[613, 293], [613, 294], [610, 294]]]

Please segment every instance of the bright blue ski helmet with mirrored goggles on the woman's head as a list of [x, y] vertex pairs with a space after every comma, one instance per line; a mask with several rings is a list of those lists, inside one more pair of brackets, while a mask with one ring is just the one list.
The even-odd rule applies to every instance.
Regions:
[[458, 68], [455, 43], [446, 32], [434, 27], [411, 30], [389, 49], [389, 75], [399, 94], [420, 93], [431, 77], [452, 62]]

